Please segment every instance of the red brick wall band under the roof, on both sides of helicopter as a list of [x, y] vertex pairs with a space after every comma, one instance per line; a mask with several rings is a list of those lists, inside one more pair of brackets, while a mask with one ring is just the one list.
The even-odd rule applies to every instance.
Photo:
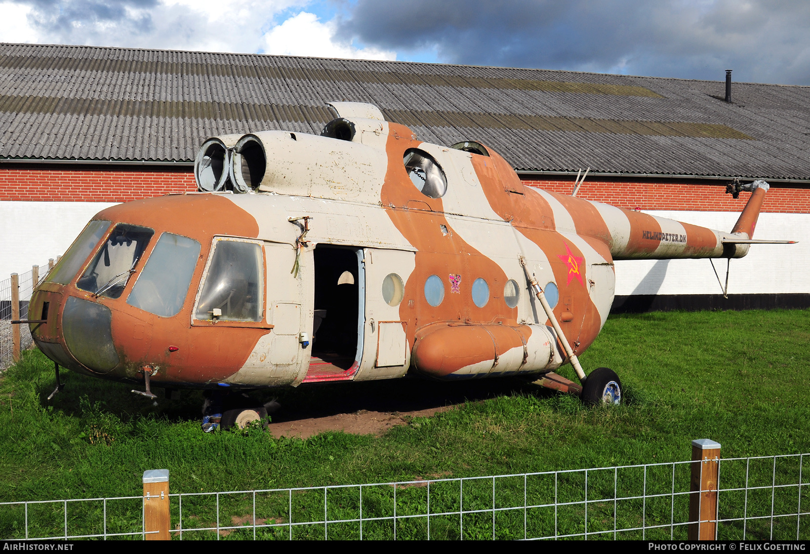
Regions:
[[[573, 179], [523, 182], [561, 194], [573, 190]], [[0, 201], [129, 202], [193, 190], [190, 167], [0, 165]], [[725, 190], [724, 184], [713, 181], [696, 185], [588, 179], [577, 195], [631, 210], [740, 211], [748, 193], [735, 200]], [[771, 187], [763, 211], [810, 213], [810, 187]]]

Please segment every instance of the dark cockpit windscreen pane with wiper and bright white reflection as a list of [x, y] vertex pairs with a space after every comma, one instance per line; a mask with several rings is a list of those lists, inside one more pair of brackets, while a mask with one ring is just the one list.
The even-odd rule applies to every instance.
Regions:
[[121, 296], [154, 234], [154, 229], [147, 227], [117, 224], [76, 281], [76, 287], [92, 292], [93, 296]]

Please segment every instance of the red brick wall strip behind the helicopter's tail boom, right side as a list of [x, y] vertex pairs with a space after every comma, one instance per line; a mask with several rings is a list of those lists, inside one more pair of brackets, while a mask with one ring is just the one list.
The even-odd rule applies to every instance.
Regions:
[[[537, 186], [560, 194], [571, 194], [571, 181], [524, 180], [523, 184]], [[683, 183], [652, 183], [632, 181], [587, 180], [577, 193], [579, 198], [595, 200], [633, 210], [741, 211], [750, 193], [740, 193], [734, 199], [726, 194], [726, 185]], [[810, 213], [810, 187], [772, 185], [765, 196], [762, 211], [778, 213]]]

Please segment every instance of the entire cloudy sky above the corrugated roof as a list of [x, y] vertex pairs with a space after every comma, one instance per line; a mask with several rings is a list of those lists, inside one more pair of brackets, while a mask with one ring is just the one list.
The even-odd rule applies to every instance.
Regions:
[[807, 0], [0, 0], [2, 42], [810, 85]]

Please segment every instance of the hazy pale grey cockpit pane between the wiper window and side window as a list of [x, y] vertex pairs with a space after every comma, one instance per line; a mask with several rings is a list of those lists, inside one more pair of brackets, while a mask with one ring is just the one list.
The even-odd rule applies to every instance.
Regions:
[[194, 239], [164, 232], [126, 303], [162, 317], [177, 315], [188, 295], [199, 254], [200, 243]]

